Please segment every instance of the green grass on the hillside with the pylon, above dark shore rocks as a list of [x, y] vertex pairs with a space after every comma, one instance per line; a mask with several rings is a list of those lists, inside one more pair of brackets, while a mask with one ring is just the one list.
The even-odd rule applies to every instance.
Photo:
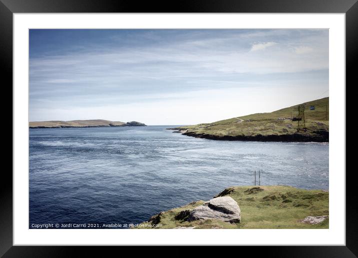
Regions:
[[[316, 131], [328, 131], [328, 105], [329, 98], [321, 98], [304, 103], [306, 108], [305, 124], [306, 130], [300, 130], [298, 133], [305, 135], [316, 135]], [[314, 105], [315, 110], [309, 110], [309, 106]], [[327, 118], [326, 118], [327, 106]], [[210, 134], [216, 136], [230, 135], [281, 135], [297, 133], [297, 121], [290, 118], [298, 113], [297, 105], [279, 109], [270, 113], [254, 113], [245, 116], [239, 116], [243, 119], [240, 122], [236, 117], [220, 120], [212, 123], [200, 123], [196, 125], [182, 126], [180, 128], [187, 129], [187, 133], [194, 134]], [[288, 118], [288, 119], [283, 119]]]

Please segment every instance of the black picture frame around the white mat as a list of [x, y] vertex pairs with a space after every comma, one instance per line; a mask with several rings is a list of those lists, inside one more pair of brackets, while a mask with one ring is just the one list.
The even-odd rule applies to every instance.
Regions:
[[[25, 12], [276, 12], [276, 13], [345, 13], [346, 84], [357, 81], [354, 61], [358, 52], [358, 3], [357, 0], [0, 0], [0, 56], [3, 87], [12, 85], [12, 14]], [[346, 85], [341, 85], [346, 88]], [[9, 91], [8, 95], [12, 90]], [[8, 110], [8, 106], [3, 107]], [[7, 115], [10, 113], [7, 111]], [[8, 117], [9, 118], [9, 117]], [[12, 120], [12, 115], [11, 118]], [[13, 128], [12, 128], [13, 129]], [[12, 134], [11, 134], [12, 135]], [[8, 137], [9, 138], [9, 137]], [[11, 147], [12, 149], [12, 147]], [[12, 152], [11, 152], [12, 153]], [[341, 171], [345, 173], [345, 171]], [[354, 171], [352, 171], [354, 172]], [[240, 251], [262, 253], [274, 257], [356, 257], [357, 194], [354, 173], [346, 176], [346, 245], [345, 246], [240, 246]], [[12, 174], [3, 169], [0, 187], [0, 256], [2, 257], [66, 257], [74, 251], [81, 256], [104, 256], [103, 248], [96, 246], [13, 246], [12, 245]], [[334, 208], [334, 207], [333, 207]], [[119, 246], [118, 246], [119, 247]], [[107, 247], [117, 251], [118, 247]], [[121, 252], [131, 252], [133, 247], [121, 246]], [[124, 249], [123, 249], [124, 248]], [[129, 249], [130, 248], [130, 249]], [[145, 255], [160, 255], [153, 246], [145, 248]], [[187, 256], [187, 247], [175, 247], [171, 256]], [[126, 250], [125, 250], [126, 249]], [[210, 247], [200, 248], [201, 255], [211, 252]], [[242, 252], [243, 254], [244, 252]], [[241, 255], [242, 255], [241, 254]], [[239, 255], [239, 254], [238, 254]]]

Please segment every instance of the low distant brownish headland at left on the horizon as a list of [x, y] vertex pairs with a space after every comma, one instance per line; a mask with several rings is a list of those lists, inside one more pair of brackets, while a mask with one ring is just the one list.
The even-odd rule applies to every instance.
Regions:
[[33, 121], [29, 122], [29, 128], [69, 128], [69, 127], [113, 127], [113, 126], [146, 126], [137, 121], [120, 122], [102, 119], [94, 120], [70, 120], [70, 121]]

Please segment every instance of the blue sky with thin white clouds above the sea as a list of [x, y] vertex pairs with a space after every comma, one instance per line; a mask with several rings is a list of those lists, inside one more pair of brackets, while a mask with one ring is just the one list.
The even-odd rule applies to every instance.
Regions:
[[328, 93], [328, 29], [29, 30], [30, 121], [197, 124]]

